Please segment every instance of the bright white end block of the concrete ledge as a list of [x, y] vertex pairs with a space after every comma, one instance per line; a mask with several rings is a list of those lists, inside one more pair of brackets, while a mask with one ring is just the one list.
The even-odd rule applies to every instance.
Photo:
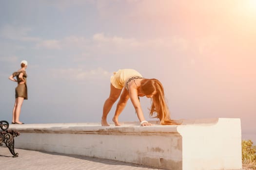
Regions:
[[195, 123], [177, 127], [182, 136], [183, 169], [241, 169], [240, 127], [240, 119], [218, 119], [218, 122], [212, 125], [197, 126]]

